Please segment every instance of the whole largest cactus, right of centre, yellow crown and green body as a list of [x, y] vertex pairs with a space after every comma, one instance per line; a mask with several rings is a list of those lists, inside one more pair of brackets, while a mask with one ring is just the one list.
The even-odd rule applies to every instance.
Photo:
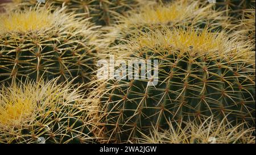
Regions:
[[158, 60], [158, 83], [149, 85], [154, 76], [143, 79], [142, 73], [139, 79], [104, 81], [95, 90], [103, 133], [127, 142], [152, 127], [165, 129], [169, 121], [200, 122], [212, 115], [255, 127], [255, 52], [248, 46], [206, 29], [164, 28], [134, 37], [126, 49], [118, 48], [117, 60]]

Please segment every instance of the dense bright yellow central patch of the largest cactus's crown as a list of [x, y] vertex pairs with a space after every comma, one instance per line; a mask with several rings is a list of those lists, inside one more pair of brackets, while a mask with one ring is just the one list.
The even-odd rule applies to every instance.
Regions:
[[[149, 36], [146, 37], [146, 35]], [[164, 34], [160, 31], [149, 34], [143, 33], [141, 36], [135, 37], [135, 40], [138, 40], [138, 44], [148, 48], [153, 48], [157, 45], [163, 47], [173, 46], [180, 49], [181, 52], [187, 52], [192, 46], [191, 52], [205, 52], [224, 48], [225, 44], [221, 42], [223, 37], [223, 33], [209, 33], [206, 29], [201, 32], [193, 29], [191, 31], [176, 29], [167, 31]]]

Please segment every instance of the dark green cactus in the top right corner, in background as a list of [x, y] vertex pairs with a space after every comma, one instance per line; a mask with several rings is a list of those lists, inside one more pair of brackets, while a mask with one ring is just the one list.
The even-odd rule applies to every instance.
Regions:
[[216, 9], [225, 10], [226, 15], [234, 18], [241, 18], [243, 11], [253, 6], [255, 8], [255, 0], [216, 0]]

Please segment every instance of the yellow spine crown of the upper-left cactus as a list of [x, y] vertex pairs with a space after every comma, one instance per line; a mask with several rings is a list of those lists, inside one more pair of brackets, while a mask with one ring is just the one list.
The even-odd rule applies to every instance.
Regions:
[[[13, 10], [1, 14], [0, 21], [2, 24], [0, 26], [0, 32], [26, 33], [43, 30], [53, 33], [54, 30], [56, 31], [56, 28], [70, 32], [77, 30], [86, 32], [90, 31], [89, 28], [92, 27], [92, 24], [88, 21], [77, 19], [75, 18], [76, 15], [72, 13], [65, 13], [65, 8], [56, 9], [53, 12], [52, 10], [52, 7], [32, 7], [29, 10]], [[86, 34], [88, 35], [89, 33], [91, 32]]]

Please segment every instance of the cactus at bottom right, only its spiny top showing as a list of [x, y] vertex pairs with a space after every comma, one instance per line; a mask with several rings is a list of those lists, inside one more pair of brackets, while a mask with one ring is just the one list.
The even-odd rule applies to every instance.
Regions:
[[[150, 135], [143, 135], [136, 144], [255, 144], [255, 128], [243, 128], [243, 124], [235, 126], [209, 117], [202, 123], [177, 123], [177, 128], [170, 123], [164, 131], [152, 129]], [[230, 135], [231, 134], [231, 135]]]

